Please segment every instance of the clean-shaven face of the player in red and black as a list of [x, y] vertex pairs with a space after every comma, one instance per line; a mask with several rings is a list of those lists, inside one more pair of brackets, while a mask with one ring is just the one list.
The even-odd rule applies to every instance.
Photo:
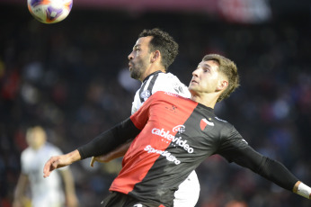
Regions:
[[218, 72], [216, 61], [201, 61], [192, 72], [189, 90], [191, 94], [214, 93], [219, 90], [219, 85], [223, 80], [224, 77]]

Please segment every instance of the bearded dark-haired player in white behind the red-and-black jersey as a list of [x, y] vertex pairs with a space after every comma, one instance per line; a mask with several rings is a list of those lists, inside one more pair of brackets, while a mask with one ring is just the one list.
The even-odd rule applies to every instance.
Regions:
[[[191, 97], [188, 87], [183, 85], [177, 76], [167, 72], [177, 54], [177, 42], [165, 31], [155, 28], [144, 30], [138, 35], [138, 40], [128, 57], [130, 76], [142, 83], [134, 96], [132, 114], [138, 111], [147, 98], [157, 91]], [[113, 158], [123, 157], [129, 145], [130, 143], [123, 145], [107, 155], [93, 157], [91, 166], [94, 161], [109, 162]], [[200, 183], [194, 170], [179, 185], [174, 196], [174, 207], [195, 206], [200, 196]]]

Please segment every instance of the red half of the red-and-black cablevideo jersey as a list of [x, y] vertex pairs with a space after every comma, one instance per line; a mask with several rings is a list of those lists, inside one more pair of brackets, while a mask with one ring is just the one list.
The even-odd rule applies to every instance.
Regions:
[[[155, 160], [161, 156], [158, 153], [147, 153], [144, 148], [150, 145], [152, 148], [165, 151], [171, 143], [168, 139], [162, 139], [160, 136], [151, 133], [151, 131], [156, 127], [160, 128], [159, 130], [164, 128], [164, 131], [169, 131], [174, 136], [177, 133], [177, 131], [173, 132], [176, 123], [183, 124], [187, 121], [191, 112], [198, 104], [192, 101], [179, 102], [178, 108], [176, 108], [176, 106], [172, 105], [173, 102], [171, 102], [171, 99], [175, 98], [162, 92], [160, 94], [155, 93], [148, 98], [147, 102], [143, 104], [137, 113], [131, 116], [131, 120], [138, 129], [142, 129], [146, 122], [147, 125], [130, 145], [128, 152], [123, 158], [120, 174], [111, 184], [111, 191], [131, 192], [135, 184], [140, 183], [144, 179], [149, 169], [155, 164]], [[167, 102], [164, 103], [164, 100]], [[147, 109], [149, 107], [151, 109]], [[189, 111], [191, 108], [192, 110]], [[176, 111], [187, 113], [174, 116], [173, 120], [169, 119], [172, 113]], [[161, 117], [167, 117], [167, 119], [164, 121]], [[162, 122], [159, 122], [159, 119]]]

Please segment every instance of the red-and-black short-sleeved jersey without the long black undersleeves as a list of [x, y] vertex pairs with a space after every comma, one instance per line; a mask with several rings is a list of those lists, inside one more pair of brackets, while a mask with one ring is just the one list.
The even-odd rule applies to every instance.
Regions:
[[177, 94], [153, 94], [130, 120], [141, 132], [110, 190], [140, 201], [172, 206], [178, 185], [206, 157], [247, 146], [233, 125], [218, 119], [213, 109]]

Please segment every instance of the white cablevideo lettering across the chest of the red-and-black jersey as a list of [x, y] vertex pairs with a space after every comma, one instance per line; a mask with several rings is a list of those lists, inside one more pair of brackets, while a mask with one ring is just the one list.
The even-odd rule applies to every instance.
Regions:
[[164, 138], [163, 140], [166, 141], [166, 143], [169, 143], [170, 141], [173, 146], [179, 146], [184, 150], [186, 150], [188, 153], [193, 153], [193, 148], [191, 148], [189, 144], [187, 144], [186, 139], [182, 139], [182, 137], [173, 136], [173, 134], [170, 134], [169, 130], [165, 131], [164, 129], [160, 130], [154, 128], [151, 130], [151, 133]]

